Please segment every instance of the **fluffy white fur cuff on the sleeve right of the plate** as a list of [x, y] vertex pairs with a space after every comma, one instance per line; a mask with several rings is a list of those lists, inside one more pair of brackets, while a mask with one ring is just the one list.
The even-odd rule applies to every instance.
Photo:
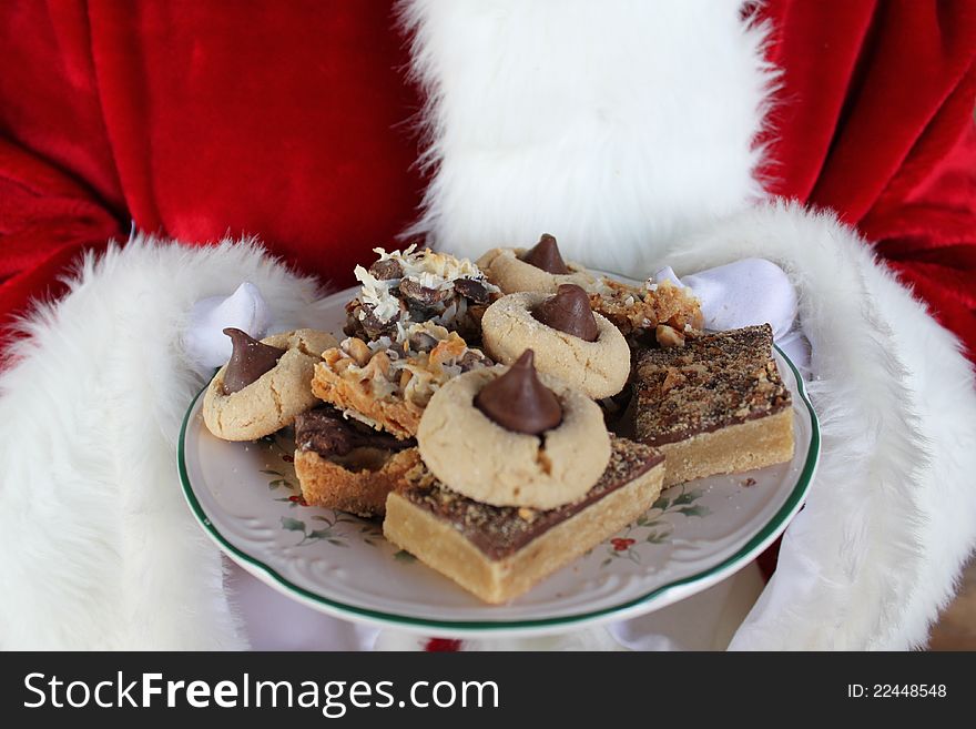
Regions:
[[976, 538], [976, 392], [958, 342], [827, 213], [774, 203], [667, 257], [762, 256], [800, 292], [823, 453], [777, 574], [733, 648], [924, 645]]

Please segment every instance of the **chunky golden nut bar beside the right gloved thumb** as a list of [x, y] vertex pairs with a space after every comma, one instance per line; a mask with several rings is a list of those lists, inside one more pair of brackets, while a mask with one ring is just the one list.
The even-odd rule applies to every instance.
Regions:
[[593, 311], [632, 340], [648, 334], [653, 335], [658, 345], [671, 347], [701, 335], [704, 325], [701, 303], [690, 288], [675, 286], [670, 281], [634, 286], [604, 277], [589, 292]]

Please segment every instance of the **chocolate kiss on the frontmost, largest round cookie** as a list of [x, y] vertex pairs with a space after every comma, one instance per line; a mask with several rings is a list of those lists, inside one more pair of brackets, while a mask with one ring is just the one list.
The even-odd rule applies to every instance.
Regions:
[[533, 357], [532, 351], [526, 350], [508, 372], [485, 385], [475, 397], [475, 406], [491, 421], [528, 435], [551, 431], [562, 422], [562, 406], [539, 382]]

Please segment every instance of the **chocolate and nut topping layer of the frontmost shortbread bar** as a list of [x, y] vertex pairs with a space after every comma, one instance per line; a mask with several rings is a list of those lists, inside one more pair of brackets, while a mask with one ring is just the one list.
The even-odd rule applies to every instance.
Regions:
[[555, 509], [489, 506], [475, 502], [444, 486], [423, 463], [407, 472], [408, 488], [400, 494], [436, 518], [449, 523], [491, 559], [504, 559], [664, 459], [660, 450], [626, 438], [614, 437], [611, 445], [610, 462], [600, 480], [582, 498]]

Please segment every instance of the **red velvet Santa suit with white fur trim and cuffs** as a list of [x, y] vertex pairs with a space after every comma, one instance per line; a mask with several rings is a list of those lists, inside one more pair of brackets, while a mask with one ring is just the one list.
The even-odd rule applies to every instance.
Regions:
[[[950, 333], [976, 345], [976, 18], [744, 4], [413, 0], [397, 29], [377, 3], [4, 3], [0, 315], [29, 318], [0, 382], [0, 645], [246, 645], [173, 483], [193, 302], [250, 280], [314, 324], [405, 231], [470, 255], [542, 230], [638, 277], [787, 271], [823, 458], [779, 567], [801, 579], [735, 640], [923, 644], [976, 529]], [[179, 243], [58, 282], [130, 221]], [[204, 245], [251, 235], [317, 279]]]

